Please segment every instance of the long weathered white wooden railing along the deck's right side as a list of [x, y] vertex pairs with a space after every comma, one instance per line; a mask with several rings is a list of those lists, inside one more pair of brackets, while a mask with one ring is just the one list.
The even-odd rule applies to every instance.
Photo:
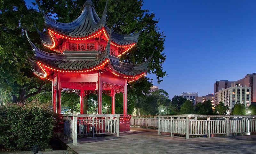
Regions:
[[256, 115], [159, 115], [158, 134], [207, 135], [256, 132]]

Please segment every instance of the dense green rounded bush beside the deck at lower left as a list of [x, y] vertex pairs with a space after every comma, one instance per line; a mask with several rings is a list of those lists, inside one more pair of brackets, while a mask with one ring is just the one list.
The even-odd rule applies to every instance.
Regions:
[[6, 104], [0, 107], [0, 148], [31, 150], [34, 144], [48, 146], [53, 133], [53, 112], [46, 105]]

